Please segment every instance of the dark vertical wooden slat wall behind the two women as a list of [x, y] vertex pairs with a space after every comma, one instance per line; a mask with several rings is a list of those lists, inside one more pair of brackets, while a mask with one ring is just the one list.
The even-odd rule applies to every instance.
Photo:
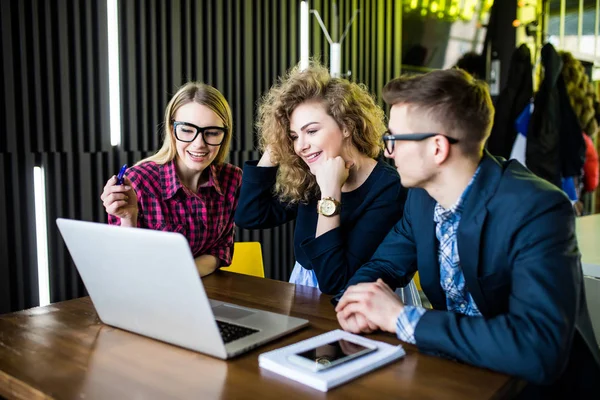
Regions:
[[[333, 0], [313, 0], [332, 32]], [[400, 71], [401, 7], [394, 0], [340, 0], [342, 71], [379, 97]], [[34, 306], [37, 258], [33, 166], [46, 173], [51, 301], [85, 293], [55, 218], [106, 221], [99, 200], [119, 165], [151, 154], [164, 108], [178, 86], [201, 80], [230, 102], [230, 162], [258, 158], [254, 118], [260, 97], [299, 61], [299, 0], [122, 0], [119, 2], [122, 146], [109, 131], [106, 0], [0, 0], [0, 313]], [[329, 62], [329, 44], [310, 16], [311, 55]], [[335, 37], [334, 37], [335, 39]], [[381, 101], [381, 100], [379, 100]], [[263, 245], [266, 274], [287, 279], [293, 224], [238, 230]]]

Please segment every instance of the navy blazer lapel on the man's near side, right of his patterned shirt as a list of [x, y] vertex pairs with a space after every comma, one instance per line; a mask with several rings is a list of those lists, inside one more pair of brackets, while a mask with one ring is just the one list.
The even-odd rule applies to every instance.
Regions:
[[486, 151], [480, 167], [479, 175], [465, 199], [463, 215], [458, 226], [458, 254], [467, 291], [473, 296], [481, 314], [486, 315], [488, 307], [478, 279], [482, 252], [481, 235], [487, 218], [486, 206], [498, 187], [502, 177], [502, 166]]

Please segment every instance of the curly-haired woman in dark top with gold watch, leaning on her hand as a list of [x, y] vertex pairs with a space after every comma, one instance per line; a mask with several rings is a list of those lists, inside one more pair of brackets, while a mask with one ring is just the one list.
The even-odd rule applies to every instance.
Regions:
[[383, 119], [364, 86], [318, 64], [293, 68], [262, 99], [263, 155], [244, 166], [235, 222], [296, 220], [290, 282], [338, 293], [401, 218], [406, 191], [378, 161]]

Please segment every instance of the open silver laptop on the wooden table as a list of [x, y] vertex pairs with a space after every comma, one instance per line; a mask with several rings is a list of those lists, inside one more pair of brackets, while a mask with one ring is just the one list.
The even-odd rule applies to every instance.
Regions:
[[105, 324], [226, 359], [308, 324], [209, 300], [179, 233], [58, 218]]

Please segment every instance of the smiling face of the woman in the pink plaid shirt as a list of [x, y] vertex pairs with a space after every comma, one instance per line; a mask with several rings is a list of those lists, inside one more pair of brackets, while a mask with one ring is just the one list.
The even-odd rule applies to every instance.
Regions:
[[[224, 126], [223, 121], [210, 108], [198, 104], [187, 103], [175, 113], [174, 120], [187, 122], [198, 127]], [[208, 132], [207, 132], [208, 134]], [[201, 174], [217, 157], [221, 146], [210, 146], [199, 134], [193, 142], [176, 140], [177, 170], [182, 176]]]

